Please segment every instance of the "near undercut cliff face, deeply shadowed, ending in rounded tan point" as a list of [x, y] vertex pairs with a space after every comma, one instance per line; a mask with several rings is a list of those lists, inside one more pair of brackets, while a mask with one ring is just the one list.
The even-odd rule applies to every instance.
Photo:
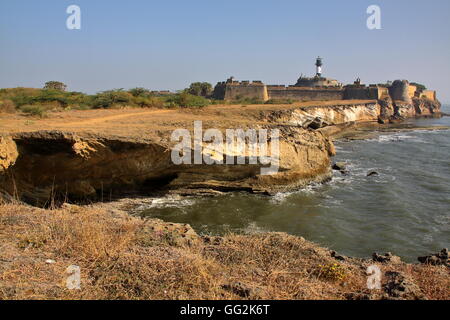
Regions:
[[330, 176], [334, 148], [320, 132], [282, 128], [279, 145], [278, 173], [261, 175], [265, 165], [260, 163], [175, 165], [171, 146], [151, 140], [60, 131], [17, 133], [0, 145], [1, 154], [8, 154], [2, 160], [0, 190], [44, 205], [54, 198], [108, 200], [134, 192], [276, 192]]

